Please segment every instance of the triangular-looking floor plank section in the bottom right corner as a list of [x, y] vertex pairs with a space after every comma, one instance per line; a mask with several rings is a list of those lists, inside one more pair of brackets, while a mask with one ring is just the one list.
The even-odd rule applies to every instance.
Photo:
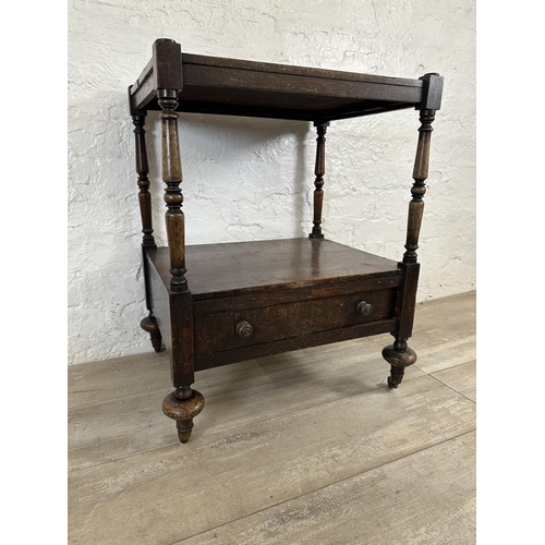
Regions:
[[470, 432], [177, 545], [473, 545], [475, 486]]

